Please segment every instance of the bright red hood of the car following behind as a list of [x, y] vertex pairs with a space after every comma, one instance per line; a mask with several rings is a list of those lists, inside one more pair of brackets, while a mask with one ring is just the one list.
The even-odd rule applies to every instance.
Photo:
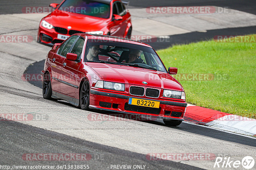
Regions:
[[59, 10], [53, 11], [50, 15], [46, 16], [44, 20], [55, 27], [67, 29], [68, 26], [71, 26], [72, 28], [70, 30], [82, 32], [101, 31], [108, 21], [106, 18], [58, 11]]

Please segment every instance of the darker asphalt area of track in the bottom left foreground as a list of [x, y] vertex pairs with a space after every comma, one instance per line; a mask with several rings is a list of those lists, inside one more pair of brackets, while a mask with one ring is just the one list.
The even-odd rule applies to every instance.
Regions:
[[91, 160], [29, 161], [29, 166], [83, 164], [89, 165], [90, 169], [110, 169], [111, 165], [146, 165], [146, 169], [152, 170], [201, 169], [179, 162], [148, 160], [143, 154], [88, 142], [14, 121], [1, 121], [0, 133], [1, 155], [5, 155], [1, 156], [0, 165], [26, 165], [21, 159], [25, 153], [87, 153], [91, 155]]

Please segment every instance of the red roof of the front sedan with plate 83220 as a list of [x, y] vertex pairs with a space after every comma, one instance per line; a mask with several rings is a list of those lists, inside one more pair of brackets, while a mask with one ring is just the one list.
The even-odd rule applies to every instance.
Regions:
[[99, 35], [99, 34], [88, 34], [88, 33], [78, 33], [78, 34], [82, 37], [87, 36], [88, 39], [102, 39], [102, 40], [110, 40], [110, 41], [119, 41], [119, 42], [137, 44], [137, 45], [142, 45], [142, 46], [147, 46], [147, 47], [152, 48], [150, 45], [148, 45], [146, 43], [143, 43], [140, 41], [135, 41], [132, 39], [126, 39], [126, 38], [109, 36], [109, 35]]

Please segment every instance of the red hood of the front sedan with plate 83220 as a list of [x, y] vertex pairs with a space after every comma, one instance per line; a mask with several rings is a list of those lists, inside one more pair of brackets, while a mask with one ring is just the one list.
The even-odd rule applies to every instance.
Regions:
[[[180, 83], [167, 73], [114, 64], [93, 62], [86, 64], [94, 69], [102, 77], [103, 81], [182, 91]], [[146, 81], [148, 84], [145, 85], [142, 81]]]

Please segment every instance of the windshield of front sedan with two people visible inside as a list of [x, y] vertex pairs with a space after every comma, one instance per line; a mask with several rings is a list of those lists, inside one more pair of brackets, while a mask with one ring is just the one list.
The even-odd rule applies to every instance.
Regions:
[[87, 41], [85, 62], [142, 67], [167, 73], [162, 61], [152, 48], [124, 42], [95, 41], [97, 40]]

